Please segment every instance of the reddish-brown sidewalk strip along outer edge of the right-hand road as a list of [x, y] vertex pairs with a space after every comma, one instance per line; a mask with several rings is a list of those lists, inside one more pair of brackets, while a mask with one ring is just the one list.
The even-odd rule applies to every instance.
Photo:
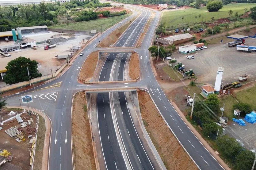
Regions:
[[181, 112], [181, 110], [178, 108], [178, 106], [171, 102], [174, 109], [177, 111], [177, 113], [180, 115], [182, 120], [186, 123], [186, 125], [189, 127], [189, 129], [193, 132], [193, 134], [197, 137], [197, 139], [204, 145], [204, 147], [209, 151], [210, 154], [216, 159], [216, 161], [219, 162], [219, 164], [226, 170], [231, 170], [227, 166], [227, 164], [214, 152], [212, 147], [204, 140], [204, 138], [197, 132], [197, 130], [189, 123], [189, 121], [185, 118], [185, 115]]

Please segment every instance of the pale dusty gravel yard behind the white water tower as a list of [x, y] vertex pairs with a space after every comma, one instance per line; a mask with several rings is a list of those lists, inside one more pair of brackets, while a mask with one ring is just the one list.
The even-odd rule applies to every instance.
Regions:
[[[245, 45], [256, 46], [256, 40], [246, 38]], [[187, 55], [193, 55], [195, 58], [189, 60]], [[193, 69], [201, 82], [214, 85], [218, 67], [224, 67], [224, 83], [237, 81], [243, 74], [250, 75], [250, 81], [255, 78], [256, 52], [237, 51], [236, 47], [231, 48], [227, 43], [220, 43], [187, 55], [174, 52], [172, 58], [182, 62], [186, 70]]]

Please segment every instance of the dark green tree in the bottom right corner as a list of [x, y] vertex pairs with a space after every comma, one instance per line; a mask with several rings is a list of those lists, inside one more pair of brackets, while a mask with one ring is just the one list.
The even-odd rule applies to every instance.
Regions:
[[255, 154], [250, 150], [242, 150], [239, 155], [235, 157], [234, 166], [239, 170], [250, 170], [255, 159]]

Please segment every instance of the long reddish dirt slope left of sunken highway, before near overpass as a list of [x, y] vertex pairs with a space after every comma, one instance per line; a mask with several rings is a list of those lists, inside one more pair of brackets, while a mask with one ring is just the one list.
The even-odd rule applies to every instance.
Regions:
[[85, 93], [75, 95], [72, 108], [75, 169], [96, 169]]

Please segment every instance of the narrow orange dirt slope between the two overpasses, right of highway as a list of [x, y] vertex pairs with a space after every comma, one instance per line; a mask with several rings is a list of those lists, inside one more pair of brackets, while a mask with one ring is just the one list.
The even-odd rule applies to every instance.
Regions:
[[140, 68], [139, 68], [139, 56], [137, 52], [132, 52], [130, 62], [129, 62], [129, 77], [132, 80], [137, 80], [139, 78]]

